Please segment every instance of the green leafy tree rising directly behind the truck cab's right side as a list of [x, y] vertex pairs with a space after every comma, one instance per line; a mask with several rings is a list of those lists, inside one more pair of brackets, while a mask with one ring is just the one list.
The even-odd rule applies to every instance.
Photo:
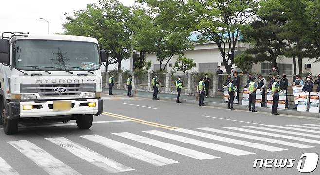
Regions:
[[[74, 17], [67, 16], [64, 24], [66, 34], [97, 38], [100, 47], [109, 51], [112, 60], [121, 69], [123, 59], [131, 53], [131, 12], [118, 0], [100, 0], [99, 4], [89, 4], [86, 10], [74, 12]], [[106, 66], [111, 62], [107, 62]]]

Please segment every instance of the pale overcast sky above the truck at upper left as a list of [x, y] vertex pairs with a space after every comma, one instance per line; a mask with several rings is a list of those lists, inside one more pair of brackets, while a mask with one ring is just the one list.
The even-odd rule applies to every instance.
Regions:
[[[74, 10], [86, 9], [87, 4], [99, 0], [0, 0], [0, 33], [30, 32], [47, 34], [48, 23], [36, 21], [40, 17], [49, 21], [49, 33], [63, 33], [62, 24], [66, 22], [64, 13], [73, 15]], [[119, 0], [132, 6], [134, 0]], [[129, 67], [123, 63], [124, 69]], [[114, 65], [109, 67], [114, 68]]]

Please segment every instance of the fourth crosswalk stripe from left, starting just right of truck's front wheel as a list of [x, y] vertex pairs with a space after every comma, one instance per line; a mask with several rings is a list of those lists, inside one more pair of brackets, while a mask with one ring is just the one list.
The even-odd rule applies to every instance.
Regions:
[[159, 156], [157, 154], [145, 151], [143, 149], [136, 148], [136, 147], [133, 147], [118, 141], [114, 141], [99, 135], [85, 135], [80, 137], [88, 139], [89, 141], [92, 141], [95, 143], [99, 143], [110, 149], [123, 153], [129, 157], [153, 164], [155, 166], [163, 166], [163, 165], [168, 165], [173, 163], [179, 163], [178, 161], [168, 159], [168, 158]]

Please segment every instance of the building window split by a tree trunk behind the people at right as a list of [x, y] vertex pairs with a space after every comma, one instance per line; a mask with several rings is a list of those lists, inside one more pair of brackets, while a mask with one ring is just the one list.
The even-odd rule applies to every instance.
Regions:
[[[278, 63], [278, 70], [279, 74], [292, 75], [292, 64]], [[266, 75], [272, 74], [272, 64], [261, 63], [261, 73]]]

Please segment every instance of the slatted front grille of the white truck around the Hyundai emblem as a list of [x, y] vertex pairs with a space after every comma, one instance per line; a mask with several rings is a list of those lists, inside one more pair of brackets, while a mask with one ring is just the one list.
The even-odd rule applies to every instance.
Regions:
[[[54, 92], [65, 88], [63, 93]], [[81, 92], [95, 92], [96, 84], [20, 84], [21, 93], [39, 93], [41, 97], [80, 96]]]

